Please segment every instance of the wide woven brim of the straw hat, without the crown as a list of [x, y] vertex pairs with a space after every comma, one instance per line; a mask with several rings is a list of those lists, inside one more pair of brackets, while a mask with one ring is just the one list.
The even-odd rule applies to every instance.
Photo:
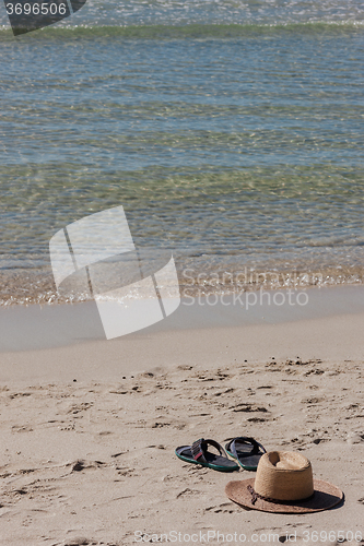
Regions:
[[248, 490], [248, 486], [254, 487], [254, 483], [255, 478], [239, 482], [228, 482], [225, 487], [225, 492], [231, 500], [244, 508], [274, 513], [320, 512], [334, 507], [342, 501], [344, 497], [343, 492], [334, 485], [321, 479], [314, 479], [315, 492], [309, 499], [283, 503], [282, 501], [273, 502], [258, 497], [256, 502], [253, 505], [251, 494]]

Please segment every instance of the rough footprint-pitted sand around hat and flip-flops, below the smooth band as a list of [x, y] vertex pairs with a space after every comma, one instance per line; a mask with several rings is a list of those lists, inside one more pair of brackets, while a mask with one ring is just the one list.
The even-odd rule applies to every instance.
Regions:
[[[364, 535], [363, 392], [362, 361], [296, 355], [153, 367], [116, 382], [3, 382], [0, 544], [116, 546], [137, 544], [138, 531], [146, 543], [171, 531], [247, 541], [278, 533], [275, 544], [296, 533], [300, 545], [336, 544], [304, 541], [304, 532]], [[302, 451], [315, 477], [344, 491], [343, 506], [303, 515], [245, 510], [224, 487], [251, 473], [219, 473], [174, 454], [200, 437], [240, 435], [267, 450]], [[221, 538], [209, 544], [234, 544]]]

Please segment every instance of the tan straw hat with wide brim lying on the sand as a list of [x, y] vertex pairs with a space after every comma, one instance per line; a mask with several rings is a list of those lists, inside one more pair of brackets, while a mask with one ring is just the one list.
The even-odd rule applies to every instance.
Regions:
[[343, 499], [338, 487], [314, 479], [308, 459], [292, 451], [265, 453], [256, 478], [228, 482], [225, 492], [243, 507], [277, 513], [319, 512]]

